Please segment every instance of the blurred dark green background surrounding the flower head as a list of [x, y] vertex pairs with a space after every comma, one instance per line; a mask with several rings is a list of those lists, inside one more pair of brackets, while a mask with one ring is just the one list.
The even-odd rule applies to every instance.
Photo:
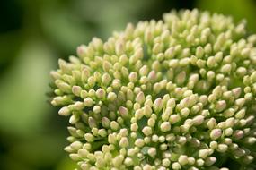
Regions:
[[256, 32], [253, 0], [1, 0], [0, 169], [69, 170], [67, 119], [49, 105], [49, 71], [93, 36], [106, 39], [127, 22], [159, 20], [197, 7], [245, 18]]

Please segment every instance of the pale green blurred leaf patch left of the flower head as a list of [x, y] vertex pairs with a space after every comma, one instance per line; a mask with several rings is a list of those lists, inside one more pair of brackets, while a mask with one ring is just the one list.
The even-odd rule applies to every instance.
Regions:
[[[1, 119], [4, 132], [26, 135], [35, 133], [49, 115], [45, 91], [53, 57], [44, 44], [24, 44], [17, 60], [1, 78]], [[36, 113], [36, 114], [35, 114]]]

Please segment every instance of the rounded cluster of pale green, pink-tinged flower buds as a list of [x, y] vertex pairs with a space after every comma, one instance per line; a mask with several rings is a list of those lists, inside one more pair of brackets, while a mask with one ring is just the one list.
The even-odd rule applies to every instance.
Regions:
[[255, 169], [255, 45], [196, 9], [93, 38], [51, 72], [65, 150], [83, 170]]

